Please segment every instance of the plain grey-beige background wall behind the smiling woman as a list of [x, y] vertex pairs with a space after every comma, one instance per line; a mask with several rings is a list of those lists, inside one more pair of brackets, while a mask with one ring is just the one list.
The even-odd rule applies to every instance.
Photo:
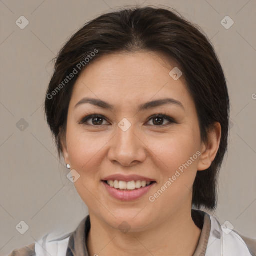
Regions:
[[[50, 60], [86, 21], [136, 3], [173, 7], [211, 39], [226, 75], [232, 120], [215, 215], [256, 238], [255, 0], [1, 0], [0, 255], [46, 233], [72, 231], [87, 215], [44, 118]], [[29, 21], [24, 29], [15, 24], [21, 15]], [[221, 24], [226, 15], [234, 21], [229, 29]], [[24, 234], [15, 228], [21, 220], [29, 226]]]

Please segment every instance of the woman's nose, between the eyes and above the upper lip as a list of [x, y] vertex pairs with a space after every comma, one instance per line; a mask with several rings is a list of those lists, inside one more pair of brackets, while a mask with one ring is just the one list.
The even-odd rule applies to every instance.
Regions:
[[119, 126], [116, 128], [116, 134], [111, 139], [108, 151], [110, 161], [131, 167], [143, 162], [146, 155], [146, 145], [134, 125], [131, 125], [126, 131]]

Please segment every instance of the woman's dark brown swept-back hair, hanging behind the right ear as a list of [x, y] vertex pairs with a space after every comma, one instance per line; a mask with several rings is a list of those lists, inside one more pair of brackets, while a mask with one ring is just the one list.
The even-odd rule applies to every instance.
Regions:
[[[221, 125], [216, 157], [207, 170], [197, 171], [193, 184], [192, 204], [214, 209], [218, 171], [227, 150], [229, 97], [226, 81], [207, 36], [173, 11], [134, 7], [103, 14], [87, 22], [66, 42], [56, 57], [45, 98], [47, 122], [58, 154], [62, 152], [60, 135], [65, 134], [68, 105], [80, 72], [103, 54], [137, 50], [162, 52], [178, 63], [195, 102], [202, 141], [207, 142], [207, 129], [214, 122]], [[65, 80], [74, 69], [77, 74]]]

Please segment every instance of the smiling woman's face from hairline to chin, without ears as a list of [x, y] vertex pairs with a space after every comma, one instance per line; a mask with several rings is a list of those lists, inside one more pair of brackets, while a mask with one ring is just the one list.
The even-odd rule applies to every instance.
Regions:
[[[74, 85], [64, 158], [80, 175], [74, 185], [90, 215], [114, 228], [126, 221], [132, 230], [145, 230], [191, 209], [204, 144], [183, 76], [169, 74], [174, 67], [153, 52], [116, 53], [91, 62]], [[98, 117], [85, 120], [90, 114]], [[120, 182], [131, 190], [103, 181], [115, 179], [131, 181]], [[155, 182], [134, 190], [132, 180]]]

